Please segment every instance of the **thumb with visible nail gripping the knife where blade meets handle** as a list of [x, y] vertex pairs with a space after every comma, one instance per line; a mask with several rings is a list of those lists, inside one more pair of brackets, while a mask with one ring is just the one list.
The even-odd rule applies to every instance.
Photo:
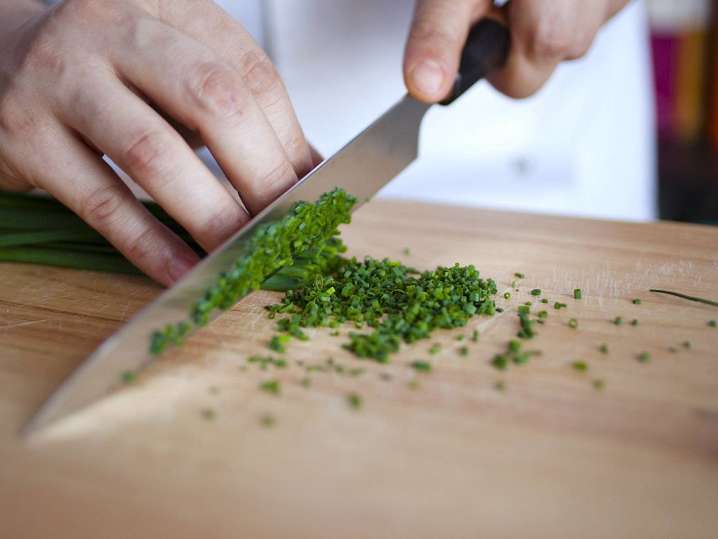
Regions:
[[404, 80], [414, 97], [441, 101], [451, 91], [471, 25], [490, 0], [418, 0], [404, 53]]

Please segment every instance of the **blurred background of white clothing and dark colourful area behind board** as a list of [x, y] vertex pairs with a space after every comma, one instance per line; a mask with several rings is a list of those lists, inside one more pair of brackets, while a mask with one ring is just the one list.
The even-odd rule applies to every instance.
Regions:
[[[269, 51], [324, 155], [404, 93], [413, 0], [220, 3]], [[634, 0], [533, 98], [513, 101], [482, 84], [435, 107], [419, 160], [382, 196], [718, 221], [717, 7]]]

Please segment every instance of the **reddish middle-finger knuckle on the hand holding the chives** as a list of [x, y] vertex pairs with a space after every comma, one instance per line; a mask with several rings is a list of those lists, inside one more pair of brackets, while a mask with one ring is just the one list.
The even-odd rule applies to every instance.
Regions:
[[217, 118], [241, 116], [246, 103], [241, 76], [221, 64], [205, 63], [190, 76], [191, 93], [206, 113]]

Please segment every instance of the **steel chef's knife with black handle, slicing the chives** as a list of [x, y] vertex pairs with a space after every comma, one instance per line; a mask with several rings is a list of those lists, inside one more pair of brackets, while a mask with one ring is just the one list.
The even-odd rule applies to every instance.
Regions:
[[[449, 105], [490, 71], [506, 61], [510, 48], [508, 30], [490, 19], [471, 31]], [[77, 412], [107, 395], [122, 373], [136, 371], [152, 361], [149, 354], [153, 331], [184, 320], [191, 306], [217, 276], [242, 256], [247, 240], [258, 226], [286, 215], [298, 201], [314, 202], [323, 193], [341, 187], [359, 204], [409, 166], [417, 157], [419, 128], [430, 105], [405, 96], [338, 153], [319, 165], [269, 207], [205, 258], [175, 286], [145, 307], [106, 340], [47, 400], [26, 426], [34, 432]], [[356, 209], [356, 208], [355, 208]]]

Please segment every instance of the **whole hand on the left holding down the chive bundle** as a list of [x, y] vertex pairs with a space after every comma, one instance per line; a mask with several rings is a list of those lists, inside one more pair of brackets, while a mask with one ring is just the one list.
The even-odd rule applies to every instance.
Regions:
[[[246, 209], [170, 122], [201, 137]], [[103, 154], [207, 250], [313, 165], [273, 65], [211, 0], [65, 0], [0, 36], [0, 189], [48, 191], [171, 284], [196, 255]]]

